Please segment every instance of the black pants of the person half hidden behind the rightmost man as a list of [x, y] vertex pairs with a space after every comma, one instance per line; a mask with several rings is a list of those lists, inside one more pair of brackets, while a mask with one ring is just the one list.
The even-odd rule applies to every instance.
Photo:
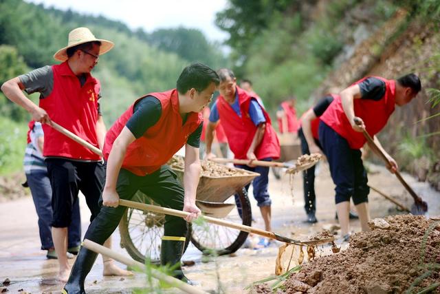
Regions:
[[[301, 154], [310, 154], [309, 145], [305, 139], [303, 129], [298, 131], [298, 137], [301, 140]], [[322, 148], [319, 141], [314, 139], [316, 145]], [[303, 171], [303, 189], [304, 189], [304, 209], [307, 214], [316, 211], [316, 194], [315, 194], [315, 166]]]

